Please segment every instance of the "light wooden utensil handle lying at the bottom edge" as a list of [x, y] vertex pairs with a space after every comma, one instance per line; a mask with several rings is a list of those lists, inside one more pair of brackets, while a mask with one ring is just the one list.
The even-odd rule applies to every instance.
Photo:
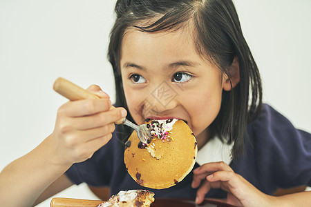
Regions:
[[55, 197], [50, 201], [50, 207], [96, 207], [102, 202], [104, 201]]

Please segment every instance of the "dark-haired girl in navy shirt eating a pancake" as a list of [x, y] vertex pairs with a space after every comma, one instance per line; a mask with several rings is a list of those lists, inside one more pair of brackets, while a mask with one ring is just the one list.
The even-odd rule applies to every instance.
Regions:
[[232, 1], [117, 1], [115, 12], [109, 61], [117, 108], [109, 110], [98, 86], [88, 90], [102, 99], [61, 106], [53, 133], [1, 172], [3, 206], [32, 206], [82, 182], [109, 186], [111, 194], [142, 188], [123, 162], [130, 129], [113, 124], [126, 111], [136, 124], [185, 120], [196, 135], [194, 170], [176, 186], [149, 189], [156, 197], [311, 203], [310, 192], [272, 196], [277, 188], [310, 186], [311, 136], [262, 103], [258, 68]]

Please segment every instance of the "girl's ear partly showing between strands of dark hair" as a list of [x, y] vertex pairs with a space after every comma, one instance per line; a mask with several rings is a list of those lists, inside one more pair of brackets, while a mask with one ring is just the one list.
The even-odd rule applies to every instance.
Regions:
[[232, 88], [236, 87], [236, 84], [240, 82], [240, 65], [238, 63], [238, 56], [234, 57], [231, 66], [229, 66], [229, 76], [230, 78], [227, 77], [227, 75], [224, 76], [223, 90], [232, 90]]

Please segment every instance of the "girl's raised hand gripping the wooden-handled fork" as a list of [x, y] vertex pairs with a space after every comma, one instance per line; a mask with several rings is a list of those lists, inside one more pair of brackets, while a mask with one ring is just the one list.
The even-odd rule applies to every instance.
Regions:
[[57, 112], [55, 129], [49, 137], [57, 164], [71, 165], [91, 158], [111, 139], [114, 121], [126, 117], [124, 108], [110, 110], [109, 95], [99, 86], [90, 86], [87, 90], [102, 99], [68, 101]]

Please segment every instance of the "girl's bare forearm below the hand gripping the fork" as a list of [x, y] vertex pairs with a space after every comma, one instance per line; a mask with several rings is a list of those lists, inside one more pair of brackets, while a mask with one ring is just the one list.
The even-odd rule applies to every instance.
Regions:
[[46, 187], [70, 167], [53, 160], [53, 148], [47, 147], [51, 139], [53, 135], [2, 170], [1, 206], [32, 206]]

